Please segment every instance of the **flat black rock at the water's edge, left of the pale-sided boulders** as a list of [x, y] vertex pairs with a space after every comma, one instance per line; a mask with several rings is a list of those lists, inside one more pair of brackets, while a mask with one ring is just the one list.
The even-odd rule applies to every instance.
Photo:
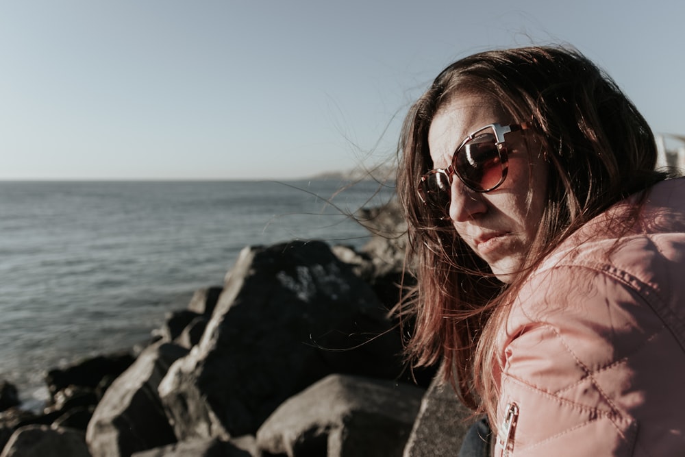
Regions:
[[48, 371], [45, 382], [53, 398], [58, 391], [72, 385], [96, 388], [105, 376], [119, 376], [134, 360], [129, 351], [86, 358], [65, 369]]

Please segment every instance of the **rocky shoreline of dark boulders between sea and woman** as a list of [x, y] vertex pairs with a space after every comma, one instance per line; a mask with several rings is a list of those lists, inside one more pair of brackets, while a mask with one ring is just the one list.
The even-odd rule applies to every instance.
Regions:
[[399, 212], [360, 219], [375, 236], [359, 251], [246, 247], [145, 347], [48, 371], [39, 414], [3, 383], [0, 457], [455, 455], [469, 412], [406, 367], [389, 313]]

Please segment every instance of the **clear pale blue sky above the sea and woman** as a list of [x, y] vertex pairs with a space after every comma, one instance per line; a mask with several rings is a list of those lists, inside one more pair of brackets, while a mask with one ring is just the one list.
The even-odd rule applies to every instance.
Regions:
[[444, 66], [531, 43], [574, 45], [685, 134], [683, 21], [682, 0], [0, 0], [0, 180], [373, 164]]

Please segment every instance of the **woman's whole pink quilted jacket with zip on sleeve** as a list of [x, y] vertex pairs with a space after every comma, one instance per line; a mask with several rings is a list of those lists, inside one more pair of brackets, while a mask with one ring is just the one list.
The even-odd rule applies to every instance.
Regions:
[[496, 456], [685, 456], [685, 179], [566, 240], [513, 304]]

